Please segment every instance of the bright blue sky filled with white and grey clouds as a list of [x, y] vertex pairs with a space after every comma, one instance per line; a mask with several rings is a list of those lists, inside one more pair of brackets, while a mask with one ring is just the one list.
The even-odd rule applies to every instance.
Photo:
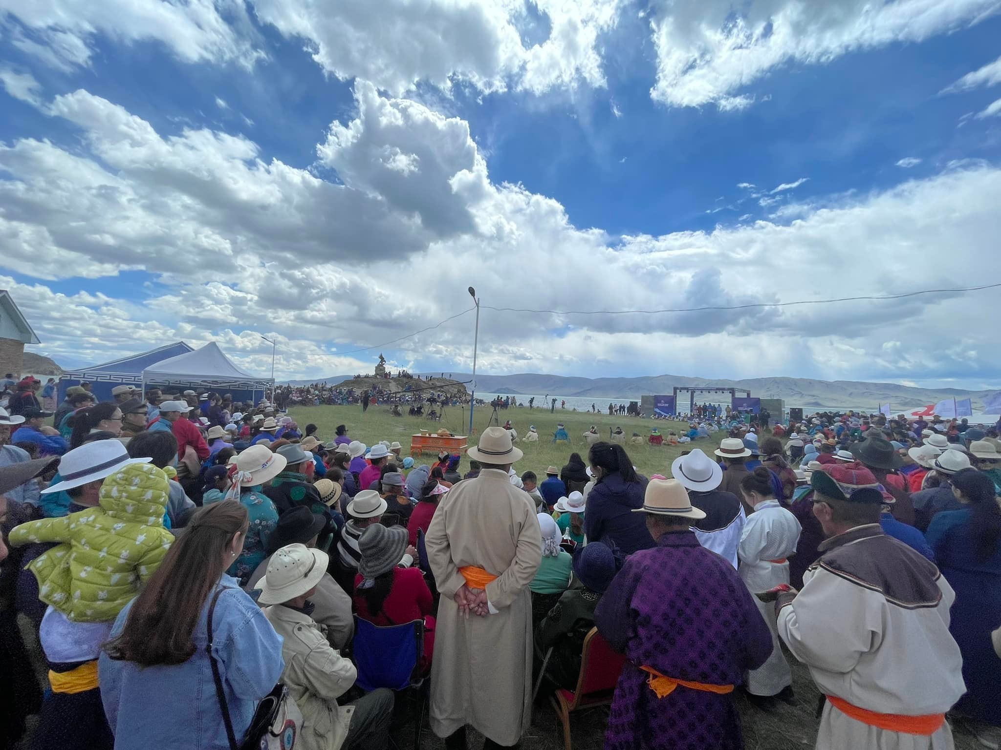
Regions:
[[[469, 284], [622, 310], [1001, 281], [1001, 0], [415, 7], [0, 1], [0, 287], [38, 350], [215, 340], [263, 372], [264, 334], [310, 377]], [[484, 310], [479, 367], [1001, 387], [997, 299]], [[470, 329], [384, 353], [467, 370]]]

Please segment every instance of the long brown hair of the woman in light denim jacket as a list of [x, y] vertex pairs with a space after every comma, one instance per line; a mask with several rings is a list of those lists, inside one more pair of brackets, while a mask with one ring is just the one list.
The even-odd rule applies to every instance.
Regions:
[[190, 659], [201, 609], [226, 569], [223, 550], [248, 525], [247, 510], [236, 500], [198, 510], [139, 592], [121, 634], [105, 644], [108, 656], [144, 667]]

